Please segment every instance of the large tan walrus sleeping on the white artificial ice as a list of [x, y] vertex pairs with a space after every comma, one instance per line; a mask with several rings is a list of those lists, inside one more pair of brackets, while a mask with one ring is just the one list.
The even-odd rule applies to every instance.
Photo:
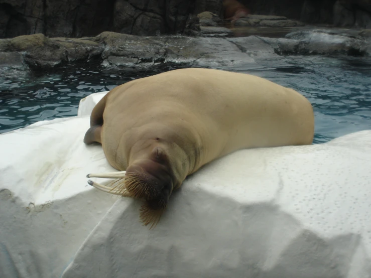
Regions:
[[130, 81], [93, 108], [84, 143], [102, 145], [120, 172], [103, 191], [144, 200], [140, 218], [156, 225], [173, 190], [205, 164], [246, 148], [310, 145], [314, 115], [293, 89], [266, 79], [188, 68]]

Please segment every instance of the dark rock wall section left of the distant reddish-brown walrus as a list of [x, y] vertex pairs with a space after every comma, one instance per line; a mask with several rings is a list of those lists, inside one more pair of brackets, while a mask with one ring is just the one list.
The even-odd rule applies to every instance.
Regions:
[[204, 9], [221, 11], [221, 0], [0, 0], [0, 38], [184, 33]]

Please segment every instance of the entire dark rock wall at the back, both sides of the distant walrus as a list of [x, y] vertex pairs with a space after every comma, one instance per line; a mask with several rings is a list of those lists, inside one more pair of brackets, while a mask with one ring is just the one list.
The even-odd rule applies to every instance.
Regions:
[[[371, 28], [371, 0], [239, 0], [254, 14], [312, 24]], [[222, 0], [0, 0], [0, 38], [193, 34], [204, 11], [222, 15]]]

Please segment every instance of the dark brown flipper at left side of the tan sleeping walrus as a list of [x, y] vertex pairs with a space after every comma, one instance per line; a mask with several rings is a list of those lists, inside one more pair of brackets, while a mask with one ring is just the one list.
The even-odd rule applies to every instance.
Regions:
[[84, 143], [86, 145], [92, 144], [94, 142], [102, 144], [100, 139], [100, 132], [103, 125], [103, 112], [105, 108], [106, 96], [94, 106], [90, 115], [90, 128], [86, 131], [84, 137]]

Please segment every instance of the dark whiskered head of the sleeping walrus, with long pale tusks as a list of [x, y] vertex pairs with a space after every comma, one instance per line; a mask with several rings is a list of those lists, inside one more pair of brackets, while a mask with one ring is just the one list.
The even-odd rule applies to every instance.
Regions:
[[174, 187], [179, 186], [179, 179], [175, 178], [176, 163], [171, 163], [166, 146], [154, 144], [139, 150], [133, 152], [135, 155], [126, 171], [89, 174], [87, 178], [114, 179], [106, 185], [92, 180], [88, 184], [107, 193], [143, 200], [140, 218], [145, 226], [151, 224], [152, 228], [166, 209]]

